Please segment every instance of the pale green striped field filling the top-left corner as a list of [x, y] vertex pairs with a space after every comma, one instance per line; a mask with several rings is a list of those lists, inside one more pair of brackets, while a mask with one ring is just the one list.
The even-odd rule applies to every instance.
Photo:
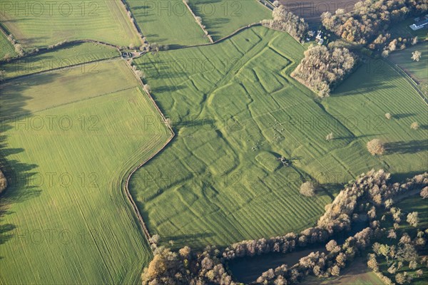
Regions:
[[[136, 29], [120, 1], [13, 0], [4, 4], [1, 24], [25, 48], [64, 40], [92, 39], [118, 46], [140, 45]], [[20, 6], [19, 6], [20, 5]]]

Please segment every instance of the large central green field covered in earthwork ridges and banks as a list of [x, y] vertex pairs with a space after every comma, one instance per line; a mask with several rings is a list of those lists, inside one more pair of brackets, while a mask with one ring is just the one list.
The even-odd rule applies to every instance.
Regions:
[[[373, 76], [363, 66], [349, 87], [320, 105], [289, 76], [303, 51], [286, 33], [258, 27], [214, 46], [136, 61], [178, 134], [131, 180], [150, 232], [199, 247], [299, 231], [320, 217], [332, 191], [372, 167], [400, 175], [426, 169], [427, 130], [409, 128], [412, 120], [427, 125], [426, 106], [403, 78], [388, 68]], [[341, 123], [340, 115], [359, 116], [362, 124], [366, 115], [383, 118], [387, 110], [402, 117], [382, 131]], [[336, 139], [327, 142], [330, 131]], [[395, 142], [382, 157], [365, 148], [377, 136]], [[292, 167], [280, 165], [280, 155]], [[308, 177], [324, 186], [313, 198], [299, 194]]]

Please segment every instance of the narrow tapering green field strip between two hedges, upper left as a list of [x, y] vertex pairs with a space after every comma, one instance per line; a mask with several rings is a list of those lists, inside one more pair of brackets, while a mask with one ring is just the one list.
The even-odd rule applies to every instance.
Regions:
[[[96, 43], [78, 43], [55, 51], [22, 58], [11, 63], [4, 63], [1, 65], [1, 70], [6, 71], [5, 78], [9, 79], [117, 56], [119, 56], [119, 53], [116, 48]], [[81, 71], [87, 73], [96, 72], [98, 65], [99, 63], [88, 63], [86, 66], [81, 67]], [[70, 68], [66, 68], [62, 72], [68, 73], [69, 71]]]

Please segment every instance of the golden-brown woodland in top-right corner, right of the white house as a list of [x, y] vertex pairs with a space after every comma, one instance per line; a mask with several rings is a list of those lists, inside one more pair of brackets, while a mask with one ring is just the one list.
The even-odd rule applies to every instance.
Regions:
[[357, 2], [354, 8], [347, 13], [344, 9], [337, 9], [335, 14], [325, 12], [322, 24], [347, 41], [366, 45], [391, 24], [426, 12], [428, 4], [425, 0], [367, 0]]

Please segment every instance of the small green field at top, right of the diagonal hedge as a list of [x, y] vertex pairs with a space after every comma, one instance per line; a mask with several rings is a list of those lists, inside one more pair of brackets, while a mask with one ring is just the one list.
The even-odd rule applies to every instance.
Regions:
[[256, 0], [190, 0], [189, 5], [214, 41], [248, 24], [272, 19], [272, 11]]

